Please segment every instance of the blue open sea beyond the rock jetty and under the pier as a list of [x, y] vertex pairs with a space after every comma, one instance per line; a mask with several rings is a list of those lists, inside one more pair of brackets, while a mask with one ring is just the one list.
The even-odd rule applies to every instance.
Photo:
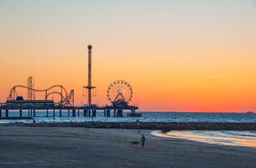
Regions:
[[[143, 112], [143, 117], [127, 117], [127, 113], [124, 112], [124, 117], [113, 117], [111, 113], [110, 117], [104, 117], [103, 112], [97, 112], [96, 117], [84, 117], [83, 112], [76, 117], [68, 117], [67, 111], [62, 111], [62, 116], [59, 116], [59, 112], [55, 112], [53, 118], [52, 111], [49, 111], [49, 117], [46, 117], [46, 111], [36, 111], [36, 122], [134, 122], [140, 120], [141, 122], [256, 122], [255, 113], [177, 113], [177, 112]], [[4, 116], [2, 111], [2, 116]], [[71, 112], [70, 112], [71, 115]], [[19, 111], [9, 112], [9, 116], [19, 116]], [[28, 116], [27, 111], [22, 112], [22, 116]], [[33, 120], [0, 120], [0, 123], [10, 122], [33, 122]]]

